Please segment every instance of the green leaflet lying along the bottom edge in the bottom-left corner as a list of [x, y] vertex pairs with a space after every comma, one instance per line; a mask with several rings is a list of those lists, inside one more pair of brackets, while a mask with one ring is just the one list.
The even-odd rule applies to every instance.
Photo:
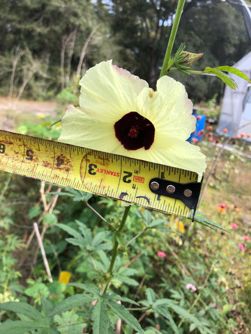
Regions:
[[24, 334], [29, 331], [38, 330], [40, 328], [48, 328], [47, 324], [33, 321], [6, 321], [0, 325], [0, 334]]

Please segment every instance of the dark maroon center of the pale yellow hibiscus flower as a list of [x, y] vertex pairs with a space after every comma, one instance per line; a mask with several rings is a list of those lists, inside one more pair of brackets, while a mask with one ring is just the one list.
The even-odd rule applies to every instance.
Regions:
[[126, 150], [149, 150], [154, 141], [153, 123], [136, 111], [126, 113], [114, 124], [116, 138]]

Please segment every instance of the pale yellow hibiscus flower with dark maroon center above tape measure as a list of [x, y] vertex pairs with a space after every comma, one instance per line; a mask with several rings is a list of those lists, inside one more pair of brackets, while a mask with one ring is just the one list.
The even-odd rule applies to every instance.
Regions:
[[59, 141], [174, 166], [198, 173], [206, 169], [198, 146], [186, 141], [195, 130], [185, 87], [170, 77], [157, 90], [127, 70], [104, 61], [79, 81], [79, 108], [62, 118]]

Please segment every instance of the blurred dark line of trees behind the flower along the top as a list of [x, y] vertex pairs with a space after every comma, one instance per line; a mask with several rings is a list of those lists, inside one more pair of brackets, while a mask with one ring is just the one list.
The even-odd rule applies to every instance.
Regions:
[[[249, 1], [247, 1], [249, 3]], [[176, 0], [0, 0], [0, 94], [70, 98], [85, 70], [109, 58], [154, 88], [174, 19]], [[233, 65], [250, 51], [241, 13], [223, 0], [188, 0], [174, 51], [203, 52], [197, 67]], [[184, 77], [194, 102], [217, 98], [213, 77]]]

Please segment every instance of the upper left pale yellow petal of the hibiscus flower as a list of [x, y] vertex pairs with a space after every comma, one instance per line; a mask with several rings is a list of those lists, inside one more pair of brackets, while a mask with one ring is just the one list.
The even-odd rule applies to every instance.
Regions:
[[108, 122], [116, 122], [135, 111], [137, 95], [148, 87], [146, 81], [112, 65], [112, 61], [91, 67], [79, 84], [82, 86], [79, 105], [89, 116]]

